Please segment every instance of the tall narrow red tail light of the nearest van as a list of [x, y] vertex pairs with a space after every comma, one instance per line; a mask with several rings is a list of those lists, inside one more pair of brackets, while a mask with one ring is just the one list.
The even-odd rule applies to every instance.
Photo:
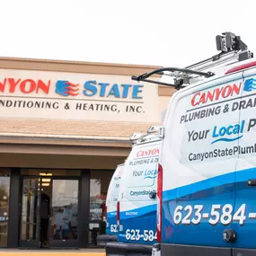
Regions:
[[156, 240], [158, 243], [162, 242], [162, 203], [163, 203], [163, 167], [158, 163], [158, 177], [157, 177], [157, 225], [156, 225]]

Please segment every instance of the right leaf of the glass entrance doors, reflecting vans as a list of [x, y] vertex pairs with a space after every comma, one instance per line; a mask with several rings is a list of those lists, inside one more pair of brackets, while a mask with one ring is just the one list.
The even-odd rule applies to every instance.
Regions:
[[78, 247], [79, 181], [53, 179], [51, 187], [50, 247]]

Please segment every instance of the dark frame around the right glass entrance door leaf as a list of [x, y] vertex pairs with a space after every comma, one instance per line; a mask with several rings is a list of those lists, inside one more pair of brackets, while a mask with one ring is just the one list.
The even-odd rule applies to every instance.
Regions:
[[[77, 185], [77, 193], [78, 193], [78, 197], [77, 197], [77, 200], [78, 200], [78, 206], [77, 206], [77, 209], [78, 209], [78, 218], [77, 218], [77, 238], [76, 239], [70, 239], [70, 240], [54, 240], [52, 239], [51, 237], [51, 232], [52, 232], [52, 229], [51, 229], [51, 224], [52, 224], [52, 199], [53, 199], [53, 182], [54, 181], [57, 181], [57, 180], [64, 180], [64, 181], [78, 181], [78, 185]], [[79, 215], [79, 208], [80, 208], [80, 204], [81, 204], [81, 196], [80, 196], [80, 183], [81, 183], [81, 177], [75, 177], [75, 176], [69, 176], [69, 177], [66, 177], [66, 176], [57, 176], [57, 177], [51, 177], [51, 181], [50, 181], [50, 186], [51, 186], [51, 194], [50, 194], [50, 205], [49, 205], [49, 208], [50, 208], [50, 216], [49, 216], [49, 248], [79, 248], [79, 231], [80, 231], [80, 228], [79, 228], [79, 220], [80, 220], [80, 215]]]

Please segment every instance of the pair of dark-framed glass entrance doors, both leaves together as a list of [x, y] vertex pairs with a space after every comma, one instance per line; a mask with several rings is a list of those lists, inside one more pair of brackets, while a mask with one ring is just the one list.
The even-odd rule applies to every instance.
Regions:
[[20, 246], [78, 247], [78, 179], [22, 177]]

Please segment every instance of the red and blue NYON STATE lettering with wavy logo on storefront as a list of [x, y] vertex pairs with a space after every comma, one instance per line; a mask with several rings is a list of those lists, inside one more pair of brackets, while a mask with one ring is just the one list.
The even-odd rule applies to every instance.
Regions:
[[88, 80], [77, 84], [68, 80], [42, 80], [6, 77], [0, 81], [0, 93], [48, 95], [54, 93], [65, 97], [100, 97], [114, 99], [143, 99], [143, 84], [110, 84]]

